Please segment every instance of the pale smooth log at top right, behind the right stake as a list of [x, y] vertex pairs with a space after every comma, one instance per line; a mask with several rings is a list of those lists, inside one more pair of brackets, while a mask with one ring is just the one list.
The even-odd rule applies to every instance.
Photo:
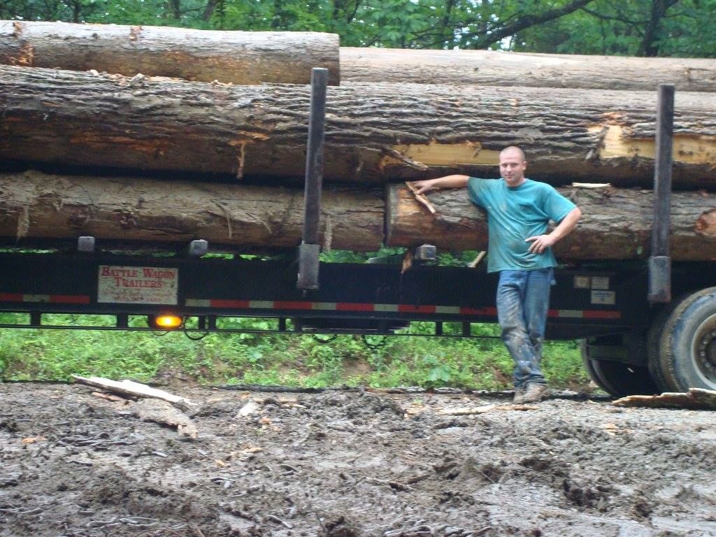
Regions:
[[716, 92], [716, 59], [341, 47], [342, 82]]

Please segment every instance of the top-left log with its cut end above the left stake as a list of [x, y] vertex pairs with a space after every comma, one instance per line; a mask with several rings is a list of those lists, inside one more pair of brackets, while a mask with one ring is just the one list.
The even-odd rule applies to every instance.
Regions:
[[234, 84], [339, 83], [339, 39], [319, 32], [221, 32], [166, 26], [0, 21], [0, 64]]

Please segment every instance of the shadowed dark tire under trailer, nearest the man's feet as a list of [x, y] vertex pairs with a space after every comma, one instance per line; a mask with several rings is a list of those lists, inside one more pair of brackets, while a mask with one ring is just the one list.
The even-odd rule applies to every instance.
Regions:
[[581, 341], [581, 354], [584, 368], [594, 383], [612, 397], [627, 395], [653, 395], [659, 392], [649, 370], [616, 360], [591, 359], [589, 344]]

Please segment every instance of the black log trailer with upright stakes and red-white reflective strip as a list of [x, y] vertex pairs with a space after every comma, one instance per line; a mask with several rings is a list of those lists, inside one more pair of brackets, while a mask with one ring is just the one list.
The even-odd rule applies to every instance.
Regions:
[[[483, 266], [437, 266], [435, 247], [410, 251], [412, 263], [319, 261], [326, 69], [311, 80], [303, 240], [283, 260], [205, 256], [191, 241], [183, 256], [101, 251], [81, 236], [72, 251], [0, 253], [0, 311], [27, 322], [1, 328], [247, 332], [226, 319], [274, 319], [293, 334], [395, 334], [412, 321], [435, 336], [473, 337], [496, 321], [496, 277]], [[546, 337], [582, 339], [586, 369], [614, 396], [716, 389], [716, 271], [711, 262], [671, 262], [669, 203], [674, 87], [659, 88], [652, 257], [648, 263], [599, 261], [561, 267]], [[672, 299], [674, 297], [674, 299]], [[53, 324], [47, 314], [112, 316], [105, 324]], [[147, 326], [130, 324], [146, 316]], [[458, 330], [445, 330], [457, 324]]]

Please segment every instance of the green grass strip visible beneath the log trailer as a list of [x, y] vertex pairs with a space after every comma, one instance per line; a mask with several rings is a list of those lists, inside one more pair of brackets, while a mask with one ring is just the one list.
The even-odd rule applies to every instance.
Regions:
[[[89, 316], [46, 316], [44, 323], [97, 323]], [[26, 322], [0, 314], [0, 322]], [[108, 321], [107, 321], [108, 322]], [[132, 326], [140, 326], [135, 319]], [[270, 319], [225, 319], [233, 328], [266, 329]], [[428, 323], [412, 323], [426, 333]], [[445, 332], [455, 329], [445, 326]], [[494, 336], [496, 326], [473, 325], [473, 335]], [[325, 387], [469, 387], [511, 385], [512, 360], [499, 339], [369, 337], [289, 334], [208, 334], [192, 341], [179, 332], [0, 329], [0, 380], [67, 380], [71, 374], [140, 382], [187, 379], [203, 384], [281, 384]], [[553, 387], [580, 389], [589, 382], [576, 342], [547, 342], [543, 369]]]

